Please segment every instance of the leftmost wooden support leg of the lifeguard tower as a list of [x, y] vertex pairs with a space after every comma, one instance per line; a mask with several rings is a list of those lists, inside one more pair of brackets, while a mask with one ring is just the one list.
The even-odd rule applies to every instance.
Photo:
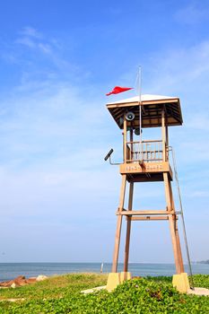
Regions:
[[[125, 193], [126, 193], [126, 175], [122, 175], [122, 185], [121, 185], [121, 189], [120, 189], [120, 199], [119, 199], [118, 212], [121, 212], [124, 208]], [[117, 270], [118, 270], [118, 254], [119, 254], [122, 218], [123, 218], [122, 215], [118, 215], [116, 239], [115, 239], [115, 249], [114, 249], [113, 263], [112, 263], [112, 273], [117, 273]]]

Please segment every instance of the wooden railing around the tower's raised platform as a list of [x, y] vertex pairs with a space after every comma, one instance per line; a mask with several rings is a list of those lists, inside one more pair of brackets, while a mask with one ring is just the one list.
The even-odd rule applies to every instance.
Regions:
[[163, 161], [162, 141], [126, 142], [126, 162], [135, 161]]

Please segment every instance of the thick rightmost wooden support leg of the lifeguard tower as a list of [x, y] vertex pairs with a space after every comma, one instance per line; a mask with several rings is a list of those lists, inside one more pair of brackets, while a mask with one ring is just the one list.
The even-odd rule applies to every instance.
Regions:
[[[167, 172], [163, 173], [163, 179], [164, 179], [164, 185], [165, 185], [165, 196], [166, 196], [168, 212], [173, 212], [173, 211], [175, 212], [170, 179]], [[177, 229], [176, 214], [172, 214], [172, 215], [170, 214], [169, 222], [170, 222], [170, 235], [171, 235], [171, 240], [172, 240], [176, 270], [177, 270], [177, 274], [180, 274], [184, 266], [183, 266], [183, 260], [182, 260], [182, 255], [181, 255], [181, 249], [179, 246], [180, 244], [179, 232]]]

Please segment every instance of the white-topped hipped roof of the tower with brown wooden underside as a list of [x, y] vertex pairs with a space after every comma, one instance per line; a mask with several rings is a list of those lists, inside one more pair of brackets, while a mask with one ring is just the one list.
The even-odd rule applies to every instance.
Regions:
[[128, 111], [135, 114], [132, 126], [139, 125], [139, 106], [142, 106], [143, 127], [161, 126], [161, 109], [165, 110], [166, 126], [181, 126], [183, 123], [178, 97], [144, 94], [141, 95], [141, 102], [139, 96], [135, 96], [107, 104], [110, 114], [120, 128], [123, 128], [121, 118]]

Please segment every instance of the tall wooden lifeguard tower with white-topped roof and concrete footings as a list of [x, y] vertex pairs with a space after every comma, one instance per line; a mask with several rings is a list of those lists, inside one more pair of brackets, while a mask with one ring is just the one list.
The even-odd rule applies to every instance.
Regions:
[[[176, 265], [175, 281], [189, 288], [179, 240], [178, 216], [172, 194], [171, 181], [173, 172], [170, 165], [169, 126], [181, 126], [182, 114], [180, 101], [177, 97], [160, 95], [141, 95], [107, 104], [111, 116], [118, 127], [123, 130], [123, 162], [119, 164], [122, 176], [119, 205], [117, 210], [117, 231], [112, 263], [112, 273], [109, 281], [117, 285], [121, 275], [118, 275], [118, 253], [120, 246], [122, 221], [126, 218], [126, 246], [123, 277], [128, 278], [128, 256], [130, 245], [131, 223], [135, 221], [168, 221], [174, 260]], [[161, 127], [161, 139], [143, 140], [144, 128]], [[137, 136], [138, 135], [138, 136]], [[105, 160], [110, 161], [109, 151]], [[140, 182], [164, 182], [166, 206], [160, 210], [133, 209], [134, 186]], [[128, 202], [125, 205], [126, 186], [128, 184]], [[182, 279], [183, 278], [183, 279]], [[110, 283], [111, 284], [111, 283]], [[179, 283], [176, 283], [176, 286]], [[187, 287], [186, 287], [187, 285]]]

